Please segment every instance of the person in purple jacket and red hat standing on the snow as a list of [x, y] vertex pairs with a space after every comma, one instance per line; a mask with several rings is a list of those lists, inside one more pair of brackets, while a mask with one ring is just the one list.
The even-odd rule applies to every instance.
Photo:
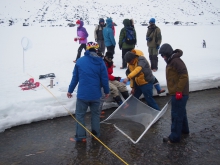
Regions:
[[74, 41], [78, 41], [79, 40], [79, 48], [78, 48], [78, 53], [76, 56], [76, 60], [74, 60], [73, 62], [76, 63], [76, 61], [81, 57], [81, 52], [82, 50], [86, 50], [86, 43], [87, 43], [87, 37], [89, 36], [89, 34], [87, 33], [86, 29], [83, 27], [84, 22], [81, 20], [77, 20], [76, 21], [76, 26], [77, 26], [77, 37], [74, 38]]

